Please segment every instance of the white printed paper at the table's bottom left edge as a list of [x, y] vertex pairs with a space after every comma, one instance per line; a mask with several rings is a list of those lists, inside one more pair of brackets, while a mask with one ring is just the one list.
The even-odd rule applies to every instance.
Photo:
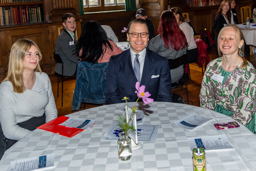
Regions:
[[12, 161], [11, 171], [27, 171], [54, 166], [54, 154]]

